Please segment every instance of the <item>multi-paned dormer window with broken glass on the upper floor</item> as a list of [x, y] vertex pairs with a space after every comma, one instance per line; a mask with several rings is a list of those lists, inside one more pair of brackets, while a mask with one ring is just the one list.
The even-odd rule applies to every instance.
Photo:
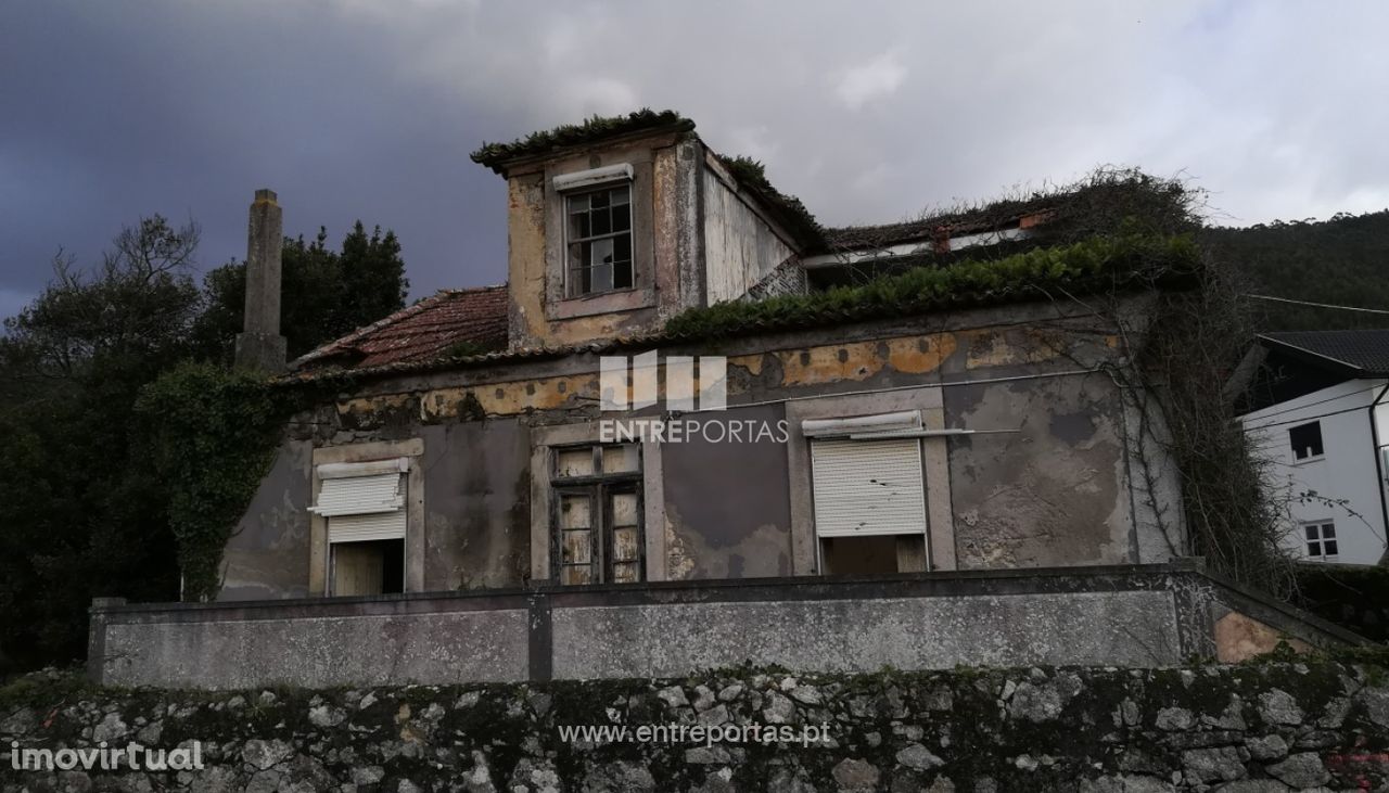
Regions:
[[628, 185], [567, 196], [567, 294], [632, 289], [632, 190]]

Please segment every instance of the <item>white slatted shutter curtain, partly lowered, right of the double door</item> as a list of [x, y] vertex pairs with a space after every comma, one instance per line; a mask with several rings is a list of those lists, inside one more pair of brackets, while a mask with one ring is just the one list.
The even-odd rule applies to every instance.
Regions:
[[810, 464], [820, 536], [926, 531], [920, 440], [811, 440]]

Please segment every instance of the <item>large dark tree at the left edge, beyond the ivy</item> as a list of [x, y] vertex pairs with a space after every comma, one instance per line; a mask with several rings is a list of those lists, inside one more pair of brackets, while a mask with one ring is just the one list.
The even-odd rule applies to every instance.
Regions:
[[90, 272], [54, 279], [0, 343], [0, 662], [81, 657], [93, 594], [178, 594], [165, 496], [135, 426], [140, 389], [189, 351], [197, 226], [156, 215]]

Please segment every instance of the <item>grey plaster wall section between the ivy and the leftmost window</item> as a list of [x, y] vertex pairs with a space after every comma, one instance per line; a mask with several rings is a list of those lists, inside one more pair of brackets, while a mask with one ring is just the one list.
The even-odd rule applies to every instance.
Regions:
[[275, 451], [222, 558], [221, 600], [308, 594], [308, 458], [313, 444], [286, 440]]

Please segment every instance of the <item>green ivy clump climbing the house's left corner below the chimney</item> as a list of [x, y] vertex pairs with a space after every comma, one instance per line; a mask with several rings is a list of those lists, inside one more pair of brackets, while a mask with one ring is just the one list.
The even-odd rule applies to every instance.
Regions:
[[183, 599], [213, 600], [226, 540], [269, 471], [288, 394], [242, 371], [185, 362], [144, 386], [153, 465], [169, 487]]

